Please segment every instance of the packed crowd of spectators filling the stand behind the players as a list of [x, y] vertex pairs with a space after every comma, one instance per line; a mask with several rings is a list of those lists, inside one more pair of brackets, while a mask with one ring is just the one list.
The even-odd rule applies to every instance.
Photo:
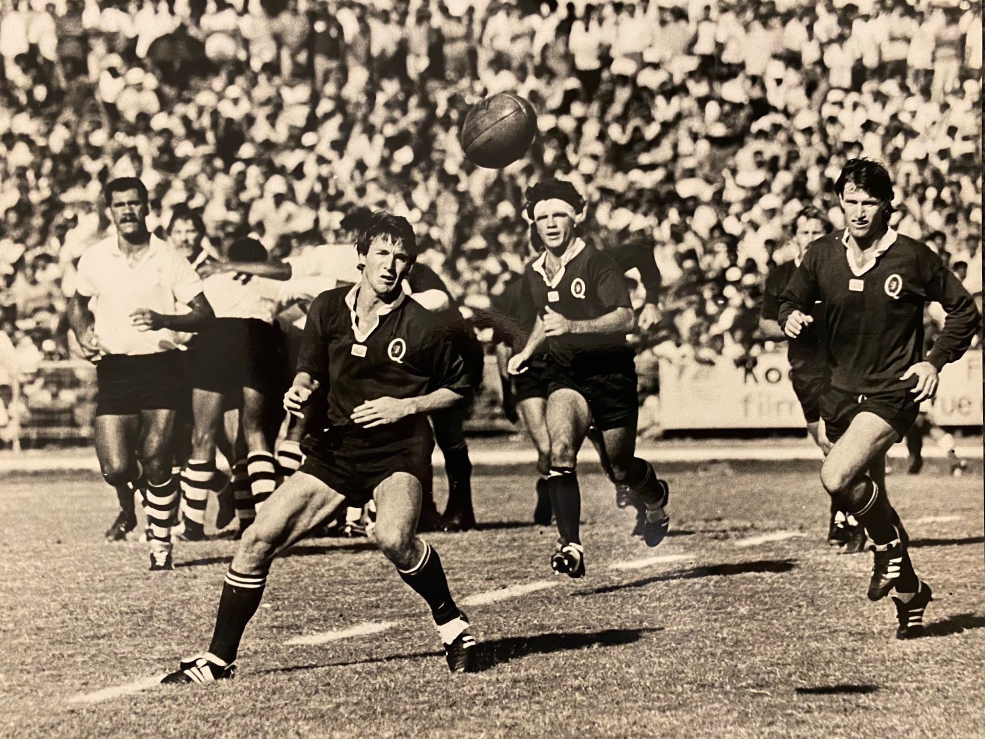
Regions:
[[[981, 292], [981, 14], [925, 0], [2, 0], [0, 271], [21, 370], [68, 357], [74, 265], [106, 235], [111, 176], [187, 203], [212, 243], [332, 241], [358, 206], [406, 216], [462, 304], [528, 252], [528, 183], [573, 181], [591, 235], [651, 241], [665, 356], [748, 361], [760, 284], [791, 218], [833, 178], [886, 162], [893, 223]], [[528, 156], [468, 163], [469, 103], [515, 91]], [[963, 263], [963, 268], [960, 263]], [[9, 338], [9, 341], [7, 339]], [[9, 345], [9, 346], [8, 346]]]

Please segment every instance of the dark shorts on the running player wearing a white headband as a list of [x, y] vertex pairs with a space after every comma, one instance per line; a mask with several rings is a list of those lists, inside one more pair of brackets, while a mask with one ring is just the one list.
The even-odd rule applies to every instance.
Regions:
[[635, 427], [639, 416], [636, 366], [631, 352], [592, 353], [561, 365], [548, 357], [544, 370], [548, 395], [574, 390], [588, 403], [599, 431]]

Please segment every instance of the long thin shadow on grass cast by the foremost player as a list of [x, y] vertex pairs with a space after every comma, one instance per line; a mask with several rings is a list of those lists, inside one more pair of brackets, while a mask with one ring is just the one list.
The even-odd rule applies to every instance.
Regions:
[[[520, 659], [531, 654], [551, 654], [558, 651], [574, 649], [599, 648], [603, 646], [622, 646], [638, 641], [645, 634], [662, 632], [663, 627], [652, 629], [607, 629], [602, 632], [564, 632], [561, 634], [537, 634], [531, 637], [506, 637], [491, 641], [480, 641], [476, 648], [478, 653], [478, 672], [495, 667], [497, 664]], [[278, 672], [299, 672], [301, 670], [318, 670], [326, 667], [350, 667], [358, 664], [377, 664], [404, 659], [424, 659], [426, 657], [444, 656], [441, 651], [421, 651], [411, 654], [390, 654], [385, 657], [371, 659], [356, 659], [349, 662], [327, 662], [325, 664], [305, 664], [292, 667], [276, 667], [264, 670], [263, 674]]]

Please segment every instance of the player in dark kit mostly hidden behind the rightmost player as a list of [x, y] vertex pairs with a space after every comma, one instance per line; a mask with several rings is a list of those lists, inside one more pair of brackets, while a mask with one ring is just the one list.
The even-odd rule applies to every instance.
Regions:
[[[794, 221], [794, 243], [797, 255], [788, 262], [777, 265], [766, 275], [762, 290], [762, 305], [759, 310], [759, 332], [763, 338], [772, 341], [786, 341], [786, 334], [776, 319], [780, 311], [780, 295], [790, 278], [804, 261], [808, 246], [822, 235], [831, 233], [831, 225], [814, 207], [802, 210]], [[821, 427], [821, 395], [827, 384], [828, 370], [821, 329], [823, 328], [823, 307], [817, 303], [811, 311], [814, 324], [804, 329], [797, 341], [787, 344], [787, 360], [790, 362], [790, 380], [804, 411], [807, 430], [826, 455], [831, 442], [824, 436]], [[831, 499], [831, 514], [828, 520], [827, 541], [840, 547], [845, 554], [857, 554], [865, 550], [865, 529], [851, 518]]]

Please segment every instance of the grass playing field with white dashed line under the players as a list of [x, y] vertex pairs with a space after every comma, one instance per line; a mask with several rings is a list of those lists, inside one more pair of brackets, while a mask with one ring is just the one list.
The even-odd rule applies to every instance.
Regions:
[[477, 468], [483, 529], [427, 538], [472, 604], [479, 674], [448, 674], [370, 542], [315, 539], [275, 564], [235, 680], [142, 691], [207, 645], [234, 544], [179, 544], [149, 572], [146, 545], [102, 542], [115, 502], [95, 475], [8, 477], [0, 735], [985, 735], [981, 462], [889, 479], [936, 596], [912, 641], [866, 599], [871, 554], [826, 546], [817, 466], [665, 468], [671, 536], [651, 550], [585, 465], [582, 580], [550, 571], [528, 470]]

